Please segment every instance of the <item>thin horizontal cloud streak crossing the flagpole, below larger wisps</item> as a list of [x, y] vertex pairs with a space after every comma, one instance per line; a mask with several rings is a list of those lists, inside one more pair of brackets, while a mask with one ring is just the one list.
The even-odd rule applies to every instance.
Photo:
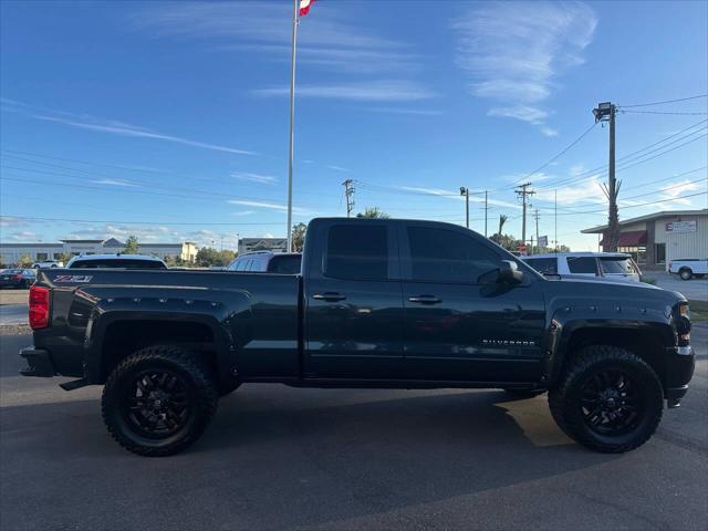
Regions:
[[[437, 94], [418, 83], [405, 80], [374, 80], [321, 85], [298, 85], [298, 97], [352, 100], [360, 102], [413, 102], [436, 97]], [[257, 88], [258, 96], [287, 96], [287, 86]]]

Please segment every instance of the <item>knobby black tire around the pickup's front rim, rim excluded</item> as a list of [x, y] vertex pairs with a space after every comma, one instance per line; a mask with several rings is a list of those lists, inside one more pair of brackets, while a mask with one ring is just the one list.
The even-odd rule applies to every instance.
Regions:
[[[654, 369], [631, 352], [610, 345], [592, 345], [571, 354], [558, 387], [549, 391], [549, 407], [559, 427], [572, 439], [596, 451], [621, 454], [649, 440], [662, 420], [664, 392]], [[583, 418], [583, 385], [600, 371], [622, 371], [635, 383], [643, 408], [627, 433], [598, 434]]]

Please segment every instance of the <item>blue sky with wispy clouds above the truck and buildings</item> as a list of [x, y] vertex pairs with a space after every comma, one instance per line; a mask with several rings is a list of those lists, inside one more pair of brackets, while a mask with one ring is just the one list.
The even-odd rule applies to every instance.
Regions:
[[[1, 2], [2, 241], [284, 236], [291, 7]], [[560, 242], [594, 249], [579, 231], [606, 219], [607, 128], [545, 163], [601, 101], [627, 111], [621, 218], [706, 208], [707, 100], [629, 105], [708, 92], [707, 20], [699, 1], [320, 0], [300, 25], [294, 220], [344, 215], [352, 178], [356, 211], [464, 223], [466, 186], [490, 190], [490, 233], [504, 214], [520, 237], [529, 180], [540, 233], [558, 189]]]

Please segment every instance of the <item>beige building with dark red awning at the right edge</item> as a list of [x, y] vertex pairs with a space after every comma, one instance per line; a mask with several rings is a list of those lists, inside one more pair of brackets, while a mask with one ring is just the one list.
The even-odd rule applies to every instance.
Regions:
[[[585, 229], [584, 235], [602, 235], [607, 226]], [[620, 221], [617, 250], [634, 257], [643, 269], [668, 269], [671, 260], [708, 258], [708, 209], [656, 212]]]

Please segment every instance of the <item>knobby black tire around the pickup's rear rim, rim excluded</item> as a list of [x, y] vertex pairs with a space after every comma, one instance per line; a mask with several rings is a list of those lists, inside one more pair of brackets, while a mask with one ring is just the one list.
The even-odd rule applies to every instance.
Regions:
[[[166, 369], [184, 386], [189, 414], [178, 431], [166, 437], [146, 437], [126, 417], [126, 394], [145, 371]], [[126, 450], [139, 456], [177, 454], [196, 441], [209, 425], [218, 404], [218, 391], [210, 371], [198, 355], [173, 345], [156, 345], [135, 352], [110, 374], [103, 389], [101, 410], [111, 436]]]

